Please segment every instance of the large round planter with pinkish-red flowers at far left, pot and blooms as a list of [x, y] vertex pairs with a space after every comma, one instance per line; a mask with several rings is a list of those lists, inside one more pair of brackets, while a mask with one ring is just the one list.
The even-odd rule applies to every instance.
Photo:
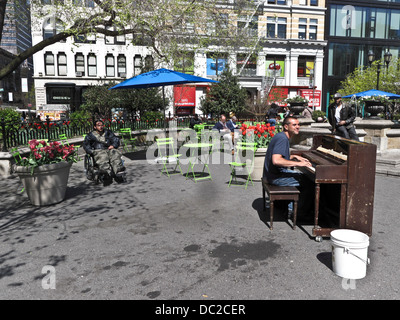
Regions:
[[64, 200], [71, 165], [76, 162], [73, 145], [64, 146], [57, 141], [29, 141], [30, 154], [14, 167], [30, 202], [46, 206]]

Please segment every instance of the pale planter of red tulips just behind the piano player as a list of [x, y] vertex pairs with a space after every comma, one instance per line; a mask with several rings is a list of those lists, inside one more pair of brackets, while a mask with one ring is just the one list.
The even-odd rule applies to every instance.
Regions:
[[275, 126], [267, 124], [246, 125], [241, 126], [242, 142], [256, 143], [256, 152], [254, 154], [253, 168], [251, 171], [251, 179], [260, 181], [264, 170], [264, 159], [268, 149], [268, 144], [277, 133]]

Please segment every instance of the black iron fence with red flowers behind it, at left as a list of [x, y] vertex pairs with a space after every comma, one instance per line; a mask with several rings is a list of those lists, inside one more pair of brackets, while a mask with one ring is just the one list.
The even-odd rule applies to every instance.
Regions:
[[[134, 120], [114, 121], [103, 119], [105, 127], [114, 132], [120, 128], [131, 128], [132, 130], [150, 130], [155, 128], [168, 128], [169, 122], [174, 121], [178, 127], [188, 127], [189, 119], [177, 120]], [[32, 139], [48, 139], [48, 141], [59, 140], [60, 134], [68, 138], [82, 136], [93, 130], [93, 118], [71, 119], [52, 121], [49, 117], [46, 120], [18, 121], [14, 123], [0, 119], [0, 144], [1, 151], [8, 151], [10, 148], [27, 146]]]

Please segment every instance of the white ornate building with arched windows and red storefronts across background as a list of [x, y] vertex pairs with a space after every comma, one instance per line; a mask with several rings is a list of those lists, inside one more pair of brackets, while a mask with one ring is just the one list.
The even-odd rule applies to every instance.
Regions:
[[[215, 78], [226, 63], [240, 76], [240, 83], [249, 96], [281, 92], [285, 96], [296, 94], [320, 96], [322, 88], [325, 0], [265, 0], [252, 16], [234, 16], [237, 27], [248, 23], [248, 32], [257, 35], [259, 50], [253, 58], [243, 53], [227, 53], [220, 58], [206, 51], [195, 52], [193, 72], [202, 77]], [[91, 6], [93, 2], [87, 1]], [[32, 25], [32, 43], [35, 45], [59, 30], [57, 18], [46, 17]], [[51, 109], [78, 107], [82, 92], [90, 85], [133, 77], [141, 72], [151, 52], [145, 46], [131, 44], [129, 35], [85, 39], [69, 37], [36, 53], [34, 82], [36, 108]], [[243, 65], [245, 67], [243, 67]], [[165, 66], [171, 68], [171, 66]], [[178, 70], [179, 71], [179, 70]], [[187, 70], [185, 70], [187, 71]], [[310, 91], [310, 88], [311, 91]], [[314, 89], [314, 90], [313, 90]], [[308, 90], [308, 91], [307, 91]], [[170, 94], [173, 94], [170, 90]], [[178, 91], [175, 91], [175, 94]], [[198, 110], [204, 85], [193, 87], [193, 94], [174, 101], [171, 114], [201, 113]], [[315, 107], [319, 103], [315, 100]], [[177, 108], [179, 107], [179, 108]]]

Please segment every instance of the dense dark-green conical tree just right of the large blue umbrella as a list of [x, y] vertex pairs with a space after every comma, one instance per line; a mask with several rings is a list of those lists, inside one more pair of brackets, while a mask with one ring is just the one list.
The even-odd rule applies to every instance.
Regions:
[[227, 67], [218, 76], [219, 83], [211, 86], [201, 101], [200, 110], [211, 114], [235, 114], [244, 110], [247, 91], [239, 84], [239, 78]]

